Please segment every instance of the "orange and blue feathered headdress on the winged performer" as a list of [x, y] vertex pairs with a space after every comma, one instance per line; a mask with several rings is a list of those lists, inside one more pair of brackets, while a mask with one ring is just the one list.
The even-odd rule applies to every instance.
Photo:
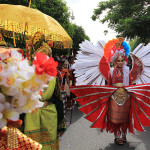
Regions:
[[124, 58], [127, 61], [129, 53], [130, 46], [122, 37], [109, 40], [104, 45], [104, 57], [107, 59], [108, 63], [114, 62], [118, 57]]

